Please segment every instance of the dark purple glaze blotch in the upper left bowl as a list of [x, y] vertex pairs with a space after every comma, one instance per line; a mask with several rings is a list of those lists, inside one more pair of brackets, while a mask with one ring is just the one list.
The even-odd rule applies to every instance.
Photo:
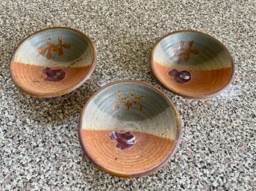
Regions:
[[50, 67], [46, 67], [43, 68], [42, 72], [47, 76], [43, 79], [45, 81], [60, 82], [66, 77], [66, 72], [61, 69], [54, 70]]

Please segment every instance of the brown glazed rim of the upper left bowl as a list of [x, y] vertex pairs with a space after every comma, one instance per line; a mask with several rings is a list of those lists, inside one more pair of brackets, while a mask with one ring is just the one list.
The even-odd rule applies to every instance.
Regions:
[[[55, 29], [63, 29], [63, 30], [72, 30], [75, 31], [76, 33], [81, 34], [81, 36], [84, 36], [85, 39], [87, 39], [87, 42], [90, 44], [90, 47], [93, 49], [93, 62], [90, 64], [90, 69], [89, 71], [87, 71], [87, 74], [84, 76], [84, 78], [82, 80], [80, 80], [79, 82], [61, 90], [61, 91], [56, 91], [53, 93], [46, 93], [46, 94], [38, 94], [36, 91], [31, 91], [28, 90], [27, 88], [23, 87], [23, 85], [19, 82], [16, 81], [15, 77], [13, 77], [13, 59], [14, 59], [14, 55], [16, 54], [16, 51], [18, 50], [19, 46], [22, 45], [23, 42], [25, 42], [25, 40], [27, 40], [28, 38], [30, 38], [31, 36], [34, 36], [37, 33], [41, 33], [43, 31], [46, 30], [55, 30]], [[97, 53], [96, 53], [96, 47], [93, 43], [93, 41], [90, 39], [89, 36], [87, 36], [86, 34], [82, 33], [80, 30], [76, 30], [74, 28], [71, 27], [47, 27], [44, 28], [43, 30], [38, 30], [34, 33], [32, 33], [31, 35], [27, 36], [25, 39], [22, 40], [22, 42], [19, 42], [19, 45], [16, 46], [16, 48], [13, 51], [13, 54], [11, 56], [10, 59], [10, 77], [13, 80], [14, 84], [16, 85], [17, 88], [19, 88], [21, 91], [25, 92], [26, 94], [29, 94], [33, 97], [40, 97], [40, 98], [47, 98], [47, 97], [58, 97], [61, 96], [63, 94], [68, 94], [71, 91], [74, 91], [76, 88], [79, 88], [81, 85], [83, 85], [83, 83], [90, 77], [91, 74], [93, 74], [94, 69], [96, 68], [96, 60], [97, 60]]]

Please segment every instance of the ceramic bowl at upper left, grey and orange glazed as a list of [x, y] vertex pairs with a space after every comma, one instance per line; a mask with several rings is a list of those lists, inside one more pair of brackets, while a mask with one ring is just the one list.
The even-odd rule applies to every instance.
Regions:
[[96, 48], [84, 33], [51, 27], [24, 39], [10, 61], [10, 76], [34, 97], [57, 97], [82, 85], [93, 73]]

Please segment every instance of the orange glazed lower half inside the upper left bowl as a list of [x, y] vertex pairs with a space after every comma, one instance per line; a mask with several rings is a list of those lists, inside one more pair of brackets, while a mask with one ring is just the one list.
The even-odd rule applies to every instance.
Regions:
[[33, 91], [37, 94], [45, 94], [69, 88], [84, 78], [90, 69], [90, 65], [79, 68], [56, 67], [66, 72], [66, 77], [60, 82], [49, 82], [43, 80], [46, 74], [42, 70], [46, 66], [27, 65], [20, 62], [11, 64], [11, 71], [16, 83], [25, 91]]

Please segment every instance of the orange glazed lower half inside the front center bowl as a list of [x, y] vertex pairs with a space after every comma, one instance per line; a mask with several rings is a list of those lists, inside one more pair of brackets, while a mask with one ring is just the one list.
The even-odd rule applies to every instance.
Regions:
[[169, 140], [141, 132], [131, 132], [136, 140], [133, 147], [116, 149], [116, 142], [110, 140], [109, 130], [82, 131], [82, 142], [87, 154], [105, 169], [119, 173], [142, 172], [160, 164], [172, 151], [175, 140]]

